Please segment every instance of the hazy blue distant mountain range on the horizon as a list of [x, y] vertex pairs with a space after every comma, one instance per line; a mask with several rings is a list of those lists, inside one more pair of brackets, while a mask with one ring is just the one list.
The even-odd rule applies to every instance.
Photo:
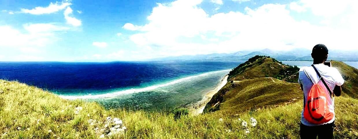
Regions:
[[[311, 51], [308, 49], [293, 49], [290, 51], [275, 51], [263, 49], [260, 51], [238, 51], [230, 54], [208, 54], [208, 55], [183, 55], [151, 59], [149, 61], [170, 61], [170, 60], [248, 60], [256, 55], [266, 55], [277, 60], [288, 61], [312, 61]], [[358, 61], [358, 51], [330, 51], [328, 60], [337, 61]]]

